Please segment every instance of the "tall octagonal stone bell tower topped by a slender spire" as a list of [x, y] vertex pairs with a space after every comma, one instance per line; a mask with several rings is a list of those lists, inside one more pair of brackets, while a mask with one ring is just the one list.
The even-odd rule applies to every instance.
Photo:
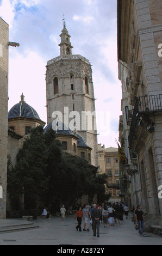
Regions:
[[72, 54], [71, 36], [65, 22], [60, 38], [60, 56], [49, 60], [46, 66], [47, 123], [51, 123], [59, 111], [63, 123], [82, 136], [92, 148], [91, 163], [98, 166], [91, 64], [83, 56]]

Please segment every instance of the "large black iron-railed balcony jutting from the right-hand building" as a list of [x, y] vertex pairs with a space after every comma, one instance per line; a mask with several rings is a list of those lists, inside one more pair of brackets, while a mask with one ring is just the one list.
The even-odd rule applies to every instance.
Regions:
[[162, 111], [162, 94], [137, 97], [135, 100], [132, 122], [128, 136], [129, 150], [138, 135], [138, 127], [141, 122], [141, 115], [149, 115]]

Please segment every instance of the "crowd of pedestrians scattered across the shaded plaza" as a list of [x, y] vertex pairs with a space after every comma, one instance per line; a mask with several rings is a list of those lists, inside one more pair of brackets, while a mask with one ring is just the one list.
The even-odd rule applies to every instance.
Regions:
[[[72, 209], [70, 209], [72, 211]], [[103, 223], [104, 228], [107, 228], [108, 225], [113, 226], [114, 223], [120, 223], [123, 221], [123, 216], [128, 218], [129, 212], [132, 215], [135, 215], [136, 222], [138, 224], [139, 233], [143, 234], [142, 228], [144, 227], [144, 213], [142, 212], [142, 206], [138, 206], [135, 211], [134, 206], [131, 210], [129, 210], [128, 205], [124, 203], [113, 203], [113, 204], [86, 204], [83, 206], [79, 206], [79, 209], [76, 212], [75, 220], [77, 219], [77, 231], [82, 231], [82, 220], [84, 221], [83, 231], [89, 231], [90, 225], [93, 230], [93, 235], [99, 237], [99, 226]], [[65, 219], [66, 209], [65, 206], [62, 205], [60, 208], [61, 218]], [[46, 216], [46, 218], [50, 217], [50, 213], [48, 208], [45, 208], [42, 212], [42, 216]]]

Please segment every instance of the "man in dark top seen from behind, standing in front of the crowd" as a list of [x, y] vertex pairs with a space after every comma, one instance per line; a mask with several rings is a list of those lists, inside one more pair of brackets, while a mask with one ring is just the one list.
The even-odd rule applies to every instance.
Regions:
[[99, 237], [99, 225], [100, 225], [100, 218], [101, 218], [101, 211], [97, 209], [96, 204], [93, 204], [93, 208], [91, 209], [91, 218], [92, 218], [92, 228], [94, 231], [94, 236]]

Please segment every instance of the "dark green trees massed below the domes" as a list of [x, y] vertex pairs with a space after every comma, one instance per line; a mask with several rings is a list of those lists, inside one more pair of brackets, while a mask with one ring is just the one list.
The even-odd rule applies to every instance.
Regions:
[[13, 208], [24, 195], [25, 209], [44, 205], [76, 202], [83, 195], [101, 199], [105, 195], [106, 175], [97, 175], [97, 168], [77, 156], [67, 157], [51, 129], [43, 132], [38, 126], [30, 131], [17, 154], [13, 168], [8, 160], [8, 192]]

